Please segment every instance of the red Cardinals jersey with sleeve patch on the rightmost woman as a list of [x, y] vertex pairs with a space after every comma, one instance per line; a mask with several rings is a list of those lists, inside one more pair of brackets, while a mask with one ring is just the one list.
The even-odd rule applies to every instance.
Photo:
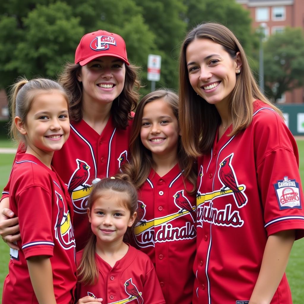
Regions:
[[[298, 150], [282, 118], [256, 101], [250, 126], [230, 132], [199, 162], [193, 303], [248, 303], [268, 236], [304, 235]], [[285, 275], [271, 303], [292, 303]]]

